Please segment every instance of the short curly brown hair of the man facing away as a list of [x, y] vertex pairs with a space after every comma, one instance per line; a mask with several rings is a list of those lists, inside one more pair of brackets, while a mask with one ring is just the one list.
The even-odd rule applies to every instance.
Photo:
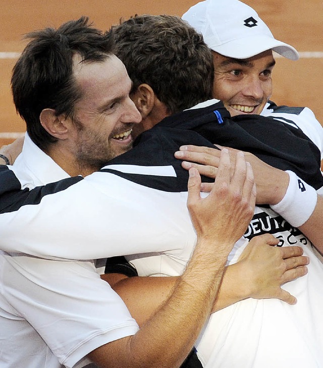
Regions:
[[170, 114], [212, 97], [211, 51], [202, 35], [181, 18], [136, 15], [111, 32], [134, 91], [147, 83]]

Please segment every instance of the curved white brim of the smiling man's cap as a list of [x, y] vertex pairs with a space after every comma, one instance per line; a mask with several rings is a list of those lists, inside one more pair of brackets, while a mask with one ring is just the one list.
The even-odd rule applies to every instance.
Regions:
[[293, 46], [264, 35], [235, 39], [221, 45], [214, 44], [214, 38], [212, 37], [209, 39], [204, 37], [204, 41], [210, 49], [229, 58], [248, 59], [272, 49], [284, 58], [299, 59], [299, 54]]

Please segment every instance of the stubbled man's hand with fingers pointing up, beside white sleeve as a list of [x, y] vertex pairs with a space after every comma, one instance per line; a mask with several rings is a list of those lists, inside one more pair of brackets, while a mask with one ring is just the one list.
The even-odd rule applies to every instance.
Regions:
[[232, 164], [227, 149], [222, 150], [217, 177], [207, 197], [201, 198], [201, 180], [190, 169], [187, 206], [198, 238], [214, 243], [214, 249], [230, 252], [245, 233], [253, 216], [256, 190], [251, 166], [243, 152]]

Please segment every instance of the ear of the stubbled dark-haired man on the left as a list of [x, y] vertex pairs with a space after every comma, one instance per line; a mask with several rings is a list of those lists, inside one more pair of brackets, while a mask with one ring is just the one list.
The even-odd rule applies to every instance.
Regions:
[[39, 116], [42, 127], [53, 137], [66, 139], [68, 134], [68, 122], [65, 115], [56, 115], [54, 109], [44, 109]]

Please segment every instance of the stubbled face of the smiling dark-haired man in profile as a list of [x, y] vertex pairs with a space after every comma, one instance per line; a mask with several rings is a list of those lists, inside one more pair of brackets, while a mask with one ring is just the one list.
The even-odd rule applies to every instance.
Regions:
[[114, 55], [100, 63], [74, 61], [82, 96], [75, 103], [75, 156], [80, 167], [102, 167], [132, 147], [131, 130], [141, 115], [129, 97], [131, 80]]

